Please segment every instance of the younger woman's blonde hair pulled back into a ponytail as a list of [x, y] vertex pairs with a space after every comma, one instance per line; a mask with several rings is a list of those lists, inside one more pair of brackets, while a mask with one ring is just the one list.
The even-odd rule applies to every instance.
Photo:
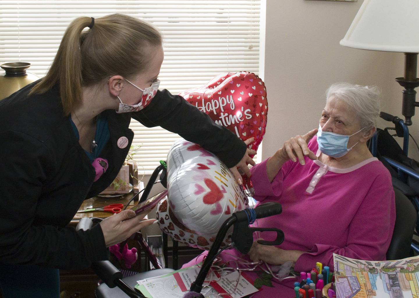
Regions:
[[47, 75], [29, 94], [40, 94], [59, 84], [65, 115], [82, 100], [82, 87], [112, 75], [131, 77], [146, 69], [147, 47], [160, 46], [162, 36], [150, 23], [112, 14], [94, 20], [76, 18], [64, 33]]

